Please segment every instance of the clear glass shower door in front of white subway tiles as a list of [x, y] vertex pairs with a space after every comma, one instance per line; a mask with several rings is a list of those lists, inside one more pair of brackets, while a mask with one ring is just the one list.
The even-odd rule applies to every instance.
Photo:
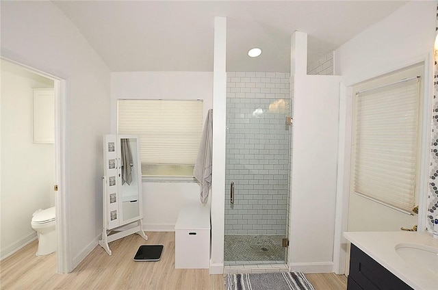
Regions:
[[226, 265], [285, 263], [289, 111], [289, 73], [228, 72]]

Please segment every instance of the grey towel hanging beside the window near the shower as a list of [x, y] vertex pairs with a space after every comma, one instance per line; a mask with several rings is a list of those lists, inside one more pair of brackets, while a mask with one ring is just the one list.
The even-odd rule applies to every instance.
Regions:
[[203, 137], [199, 145], [198, 158], [193, 175], [201, 185], [201, 202], [207, 203], [211, 187], [211, 155], [213, 153], [213, 110], [209, 109], [205, 119]]

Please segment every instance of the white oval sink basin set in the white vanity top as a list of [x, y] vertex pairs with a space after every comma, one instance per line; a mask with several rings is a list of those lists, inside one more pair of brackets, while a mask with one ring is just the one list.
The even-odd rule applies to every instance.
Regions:
[[396, 252], [413, 267], [421, 267], [438, 275], [438, 248], [416, 243], [398, 243]]

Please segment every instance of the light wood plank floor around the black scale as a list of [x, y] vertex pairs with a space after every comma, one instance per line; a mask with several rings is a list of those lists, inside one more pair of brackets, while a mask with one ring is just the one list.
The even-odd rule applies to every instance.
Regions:
[[[55, 254], [35, 256], [37, 241], [0, 262], [0, 289], [150, 289], [224, 290], [222, 275], [208, 269], [175, 269], [175, 233], [147, 233], [149, 241], [130, 235], [110, 243], [112, 256], [96, 246], [69, 274], [56, 274]], [[163, 244], [162, 259], [134, 262], [138, 246]], [[344, 290], [346, 277], [307, 274], [316, 290]]]

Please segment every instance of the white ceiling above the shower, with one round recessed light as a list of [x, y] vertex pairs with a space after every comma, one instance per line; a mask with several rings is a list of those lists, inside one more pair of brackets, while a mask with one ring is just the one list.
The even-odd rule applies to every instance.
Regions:
[[[212, 71], [214, 16], [227, 17], [227, 70], [289, 72], [290, 36], [308, 58], [337, 49], [407, 1], [53, 1], [110, 70]], [[248, 49], [260, 47], [260, 57]]]

